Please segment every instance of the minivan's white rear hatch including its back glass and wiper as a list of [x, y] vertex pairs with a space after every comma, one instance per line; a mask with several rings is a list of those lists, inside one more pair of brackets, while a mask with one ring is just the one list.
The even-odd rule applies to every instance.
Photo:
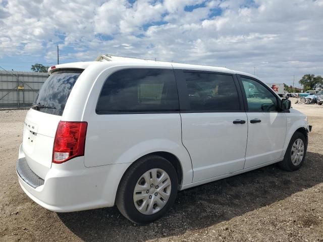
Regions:
[[22, 149], [29, 167], [43, 179], [51, 166], [57, 126], [82, 71], [63, 69], [53, 72], [42, 85], [32, 108], [27, 112]]

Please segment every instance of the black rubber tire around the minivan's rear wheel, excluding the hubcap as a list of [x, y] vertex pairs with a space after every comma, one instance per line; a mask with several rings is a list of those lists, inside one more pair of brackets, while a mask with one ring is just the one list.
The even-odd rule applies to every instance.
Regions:
[[[171, 194], [158, 212], [145, 215], [137, 210], [133, 200], [133, 193], [138, 179], [150, 169], [163, 169], [171, 179]], [[164, 216], [173, 206], [178, 190], [178, 177], [174, 166], [167, 159], [158, 155], [146, 156], [136, 161], [124, 174], [117, 192], [116, 204], [123, 216], [137, 224], [147, 224]]]

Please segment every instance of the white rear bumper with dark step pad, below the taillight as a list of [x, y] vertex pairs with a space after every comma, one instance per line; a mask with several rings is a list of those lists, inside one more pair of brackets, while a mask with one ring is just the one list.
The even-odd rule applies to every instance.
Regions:
[[83, 157], [76, 157], [63, 164], [52, 164], [42, 180], [28, 164], [23, 164], [23, 159], [20, 155], [16, 166], [22, 190], [34, 202], [54, 212], [114, 206], [120, 179], [130, 165], [87, 168]]

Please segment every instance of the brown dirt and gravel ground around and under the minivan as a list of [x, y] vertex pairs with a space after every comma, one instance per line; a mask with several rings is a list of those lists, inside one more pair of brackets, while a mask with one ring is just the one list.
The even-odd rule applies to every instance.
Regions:
[[58, 214], [34, 203], [15, 172], [26, 110], [2, 110], [0, 241], [323, 241], [323, 106], [293, 107], [313, 125], [300, 170], [271, 165], [179, 192], [148, 226], [116, 207]]

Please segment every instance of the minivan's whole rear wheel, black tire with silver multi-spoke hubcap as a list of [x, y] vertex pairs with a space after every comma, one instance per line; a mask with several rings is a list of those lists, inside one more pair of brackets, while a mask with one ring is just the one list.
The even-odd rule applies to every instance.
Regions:
[[116, 204], [129, 220], [150, 223], [163, 216], [174, 204], [178, 178], [165, 158], [152, 155], [138, 160], [120, 183]]

